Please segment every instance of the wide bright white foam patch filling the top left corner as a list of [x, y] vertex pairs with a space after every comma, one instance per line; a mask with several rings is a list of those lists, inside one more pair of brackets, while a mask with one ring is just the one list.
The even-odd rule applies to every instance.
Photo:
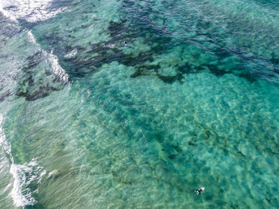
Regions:
[[10, 20], [24, 19], [38, 22], [54, 17], [67, 8], [50, 10], [52, 0], [1, 0], [0, 11]]

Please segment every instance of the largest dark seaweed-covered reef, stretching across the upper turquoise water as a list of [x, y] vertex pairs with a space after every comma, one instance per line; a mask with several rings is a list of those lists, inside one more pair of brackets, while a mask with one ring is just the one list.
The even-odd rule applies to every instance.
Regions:
[[[59, 2], [57, 3], [59, 4]], [[153, 4], [152, 2], [144, 1], [144, 6], [141, 3], [129, 0], [123, 1], [122, 3], [123, 13], [125, 14], [122, 16], [122, 19], [117, 22], [110, 21], [107, 29], [103, 29], [103, 31], [99, 32], [105, 33], [105, 35], [109, 34], [110, 40], [99, 43], [89, 43], [89, 46], [91, 47], [89, 50], [82, 49], [82, 47], [77, 49], [79, 47], [75, 47], [75, 49], [79, 51], [79, 54], [75, 58], [59, 57], [59, 63], [70, 77], [84, 77], [85, 75], [90, 75], [96, 72], [96, 70], [98, 70], [103, 64], [112, 63], [113, 61], [117, 61], [126, 66], [135, 67], [135, 72], [130, 75], [132, 78], [157, 75], [159, 79], [167, 84], [182, 82], [183, 75], [198, 73], [203, 70], [209, 70], [213, 75], [218, 77], [232, 73], [247, 79], [249, 82], [254, 82], [259, 76], [250, 73], [251, 70], [247, 69], [249, 67], [246, 68], [245, 66], [249, 61], [257, 61], [257, 59], [260, 58], [251, 57], [250, 54], [246, 55], [246, 52], [241, 51], [245, 49], [245, 47], [239, 49], [237, 47], [232, 48], [231, 46], [228, 46], [224, 41], [225, 35], [220, 34], [219, 36], [219, 34], [216, 33], [217, 26], [214, 25], [213, 22], [204, 20], [199, 16], [195, 19], [193, 19], [193, 17], [185, 17], [185, 20], [182, 19], [181, 21], [184, 21], [183, 24], [185, 24], [184, 29], [186, 33], [190, 31], [190, 28], [188, 29], [188, 26], [190, 26], [191, 23], [189, 20], [193, 19], [193, 24], [195, 24], [195, 31], [193, 32], [195, 32], [195, 35], [188, 40], [187, 38], [174, 38], [174, 29], [177, 28], [170, 26], [168, 16], [162, 15], [159, 10], [153, 10], [152, 5], [148, 6], [149, 4]], [[164, 1], [162, 2], [162, 5], [164, 8], [167, 8], [169, 12], [176, 12], [173, 3]], [[91, 12], [92, 10], [89, 8], [86, 9], [85, 13]], [[83, 20], [84, 18], [87, 18], [87, 16], [85, 15], [80, 18]], [[88, 27], [93, 24], [93, 21], [81, 24], [80, 26], [77, 26], [74, 31], [71, 31], [71, 33], [63, 33], [63, 36], [68, 36], [72, 40], [75, 40], [75, 31], [84, 30], [86, 32]], [[160, 24], [158, 24], [158, 21], [160, 21]], [[70, 24], [70, 22], [66, 22], [66, 24]], [[235, 27], [236, 25], [234, 25], [234, 22], [228, 22], [228, 29], [233, 30]], [[48, 49], [54, 48], [55, 54], [66, 54], [66, 52], [70, 52], [74, 48], [69, 45], [61, 45], [65, 40], [64, 37], [61, 36], [62, 33], [59, 33], [59, 30], [60, 29], [38, 38], [38, 41], [42, 42]], [[123, 45], [124, 41], [133, 45], [133, 42], [139, 37], [144, 38], [144, 45], [151, 46], [149, 51], [140, 52], [138, 54], [125, 54], [123, 50], [119, 49], [119, 47], [107, 47], [107, 45]], [[206, 45], [204, 45], [204, 40], [212, 43], [214, 48], [208, 49]], [[61, 47], [56, 47], [59, 45]], [[172, 76], [158, 74], [160, 67], [154, 68], [151, 66], [148, 69], [148, 65], [154, 61], [156, 56], [169, 52], [172, 53], [175, 49], [174, 45], [182, 47], [186, 45], [195, 45], [195, 47], [202, 49], [202, 52], [191, 54], [194, 60], [202, 59], [202, 53], [206, 53], [206, 51], [209, 50], [216, 55], [216, 60], [214, 60], [216, 61], [216, 64], [212, 64], [211, 61], [209, 61], [208, 63], [197, 65], [197, 63], [194, 64], [191, 63], [191, 61], [183, 60], [183, 63], [181, 64], [169, 64], [169, 67], [175, 68], [175, 71], [177, 72], [176, 75]], [[249, 47], [249, 43], [247, 43], [246, 47]], [[186, 48], [187, 47], [185, 47], [184, 50], [186, 50]], [[87, 51], [85, 52], [85, 50]], [[92, 54], [96, 54], [96, 56], [93, 56]], [[183, 59], [182, 54], [179, 54], [179, 56]], [[236, 56], [234, 66], [229, 65], [231, 61], [225, 61], [225, 59], [230, 56]], [[273, 56], [273, 59], [271, 59], [269, 63], [272, 65], [279, 65], [279, 59], [276, 56]], [[273, 72], [278, 73], [279, 70], [274, 68]], [[56, 81], [56, 79], [53, 81]]]

